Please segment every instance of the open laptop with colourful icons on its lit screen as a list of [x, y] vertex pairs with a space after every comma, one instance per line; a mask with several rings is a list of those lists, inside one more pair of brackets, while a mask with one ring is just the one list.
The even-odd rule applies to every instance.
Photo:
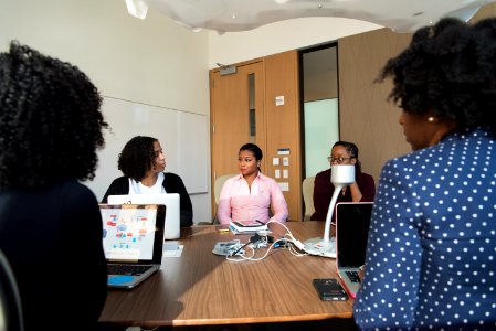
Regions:
[[134, 288], [162, 261], [165, 205], [101, 204], [108, 287]]

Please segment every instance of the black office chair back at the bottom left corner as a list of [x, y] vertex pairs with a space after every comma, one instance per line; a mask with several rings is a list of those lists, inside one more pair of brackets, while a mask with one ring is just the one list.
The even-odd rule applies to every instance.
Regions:
[[23, 331], [21, 298], [7, 257], [0, 250], [0, 330]]

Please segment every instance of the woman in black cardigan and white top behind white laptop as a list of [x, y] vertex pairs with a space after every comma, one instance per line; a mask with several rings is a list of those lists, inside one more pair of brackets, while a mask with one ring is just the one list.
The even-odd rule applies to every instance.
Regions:
[[115, 179], [102, 200], [108, 195], [179, 193], [181, 227], [193, 224], [191, 199], [181, 178], [166, 169], [166, 157], [156, 138], [136, 136], [124, 146], [117, 161], [124, 177]]

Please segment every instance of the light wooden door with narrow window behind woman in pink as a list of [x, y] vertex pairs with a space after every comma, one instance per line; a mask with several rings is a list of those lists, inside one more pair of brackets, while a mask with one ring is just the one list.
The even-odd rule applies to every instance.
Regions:
[[[241, 146], [254, 142], [265, 152], [263, 74], [262, 61], [240, 64], [235, 74], [221, 75], [219, 68], [210, 72], [212, 188], [215, 178], [239, 173]], [[263, 171], [265, 160], [262, 161]], [[212, 211], [217, 212], [214, 203]]]

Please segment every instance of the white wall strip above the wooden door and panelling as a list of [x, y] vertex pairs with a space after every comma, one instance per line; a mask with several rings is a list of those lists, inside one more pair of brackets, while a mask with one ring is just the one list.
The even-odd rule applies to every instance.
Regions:
[[300, 18], [262, 25], [243, 32], [209, 34], [209, 66], [232, 64], [339, 38], [381, 29], [373, 23], [341, 18]]

